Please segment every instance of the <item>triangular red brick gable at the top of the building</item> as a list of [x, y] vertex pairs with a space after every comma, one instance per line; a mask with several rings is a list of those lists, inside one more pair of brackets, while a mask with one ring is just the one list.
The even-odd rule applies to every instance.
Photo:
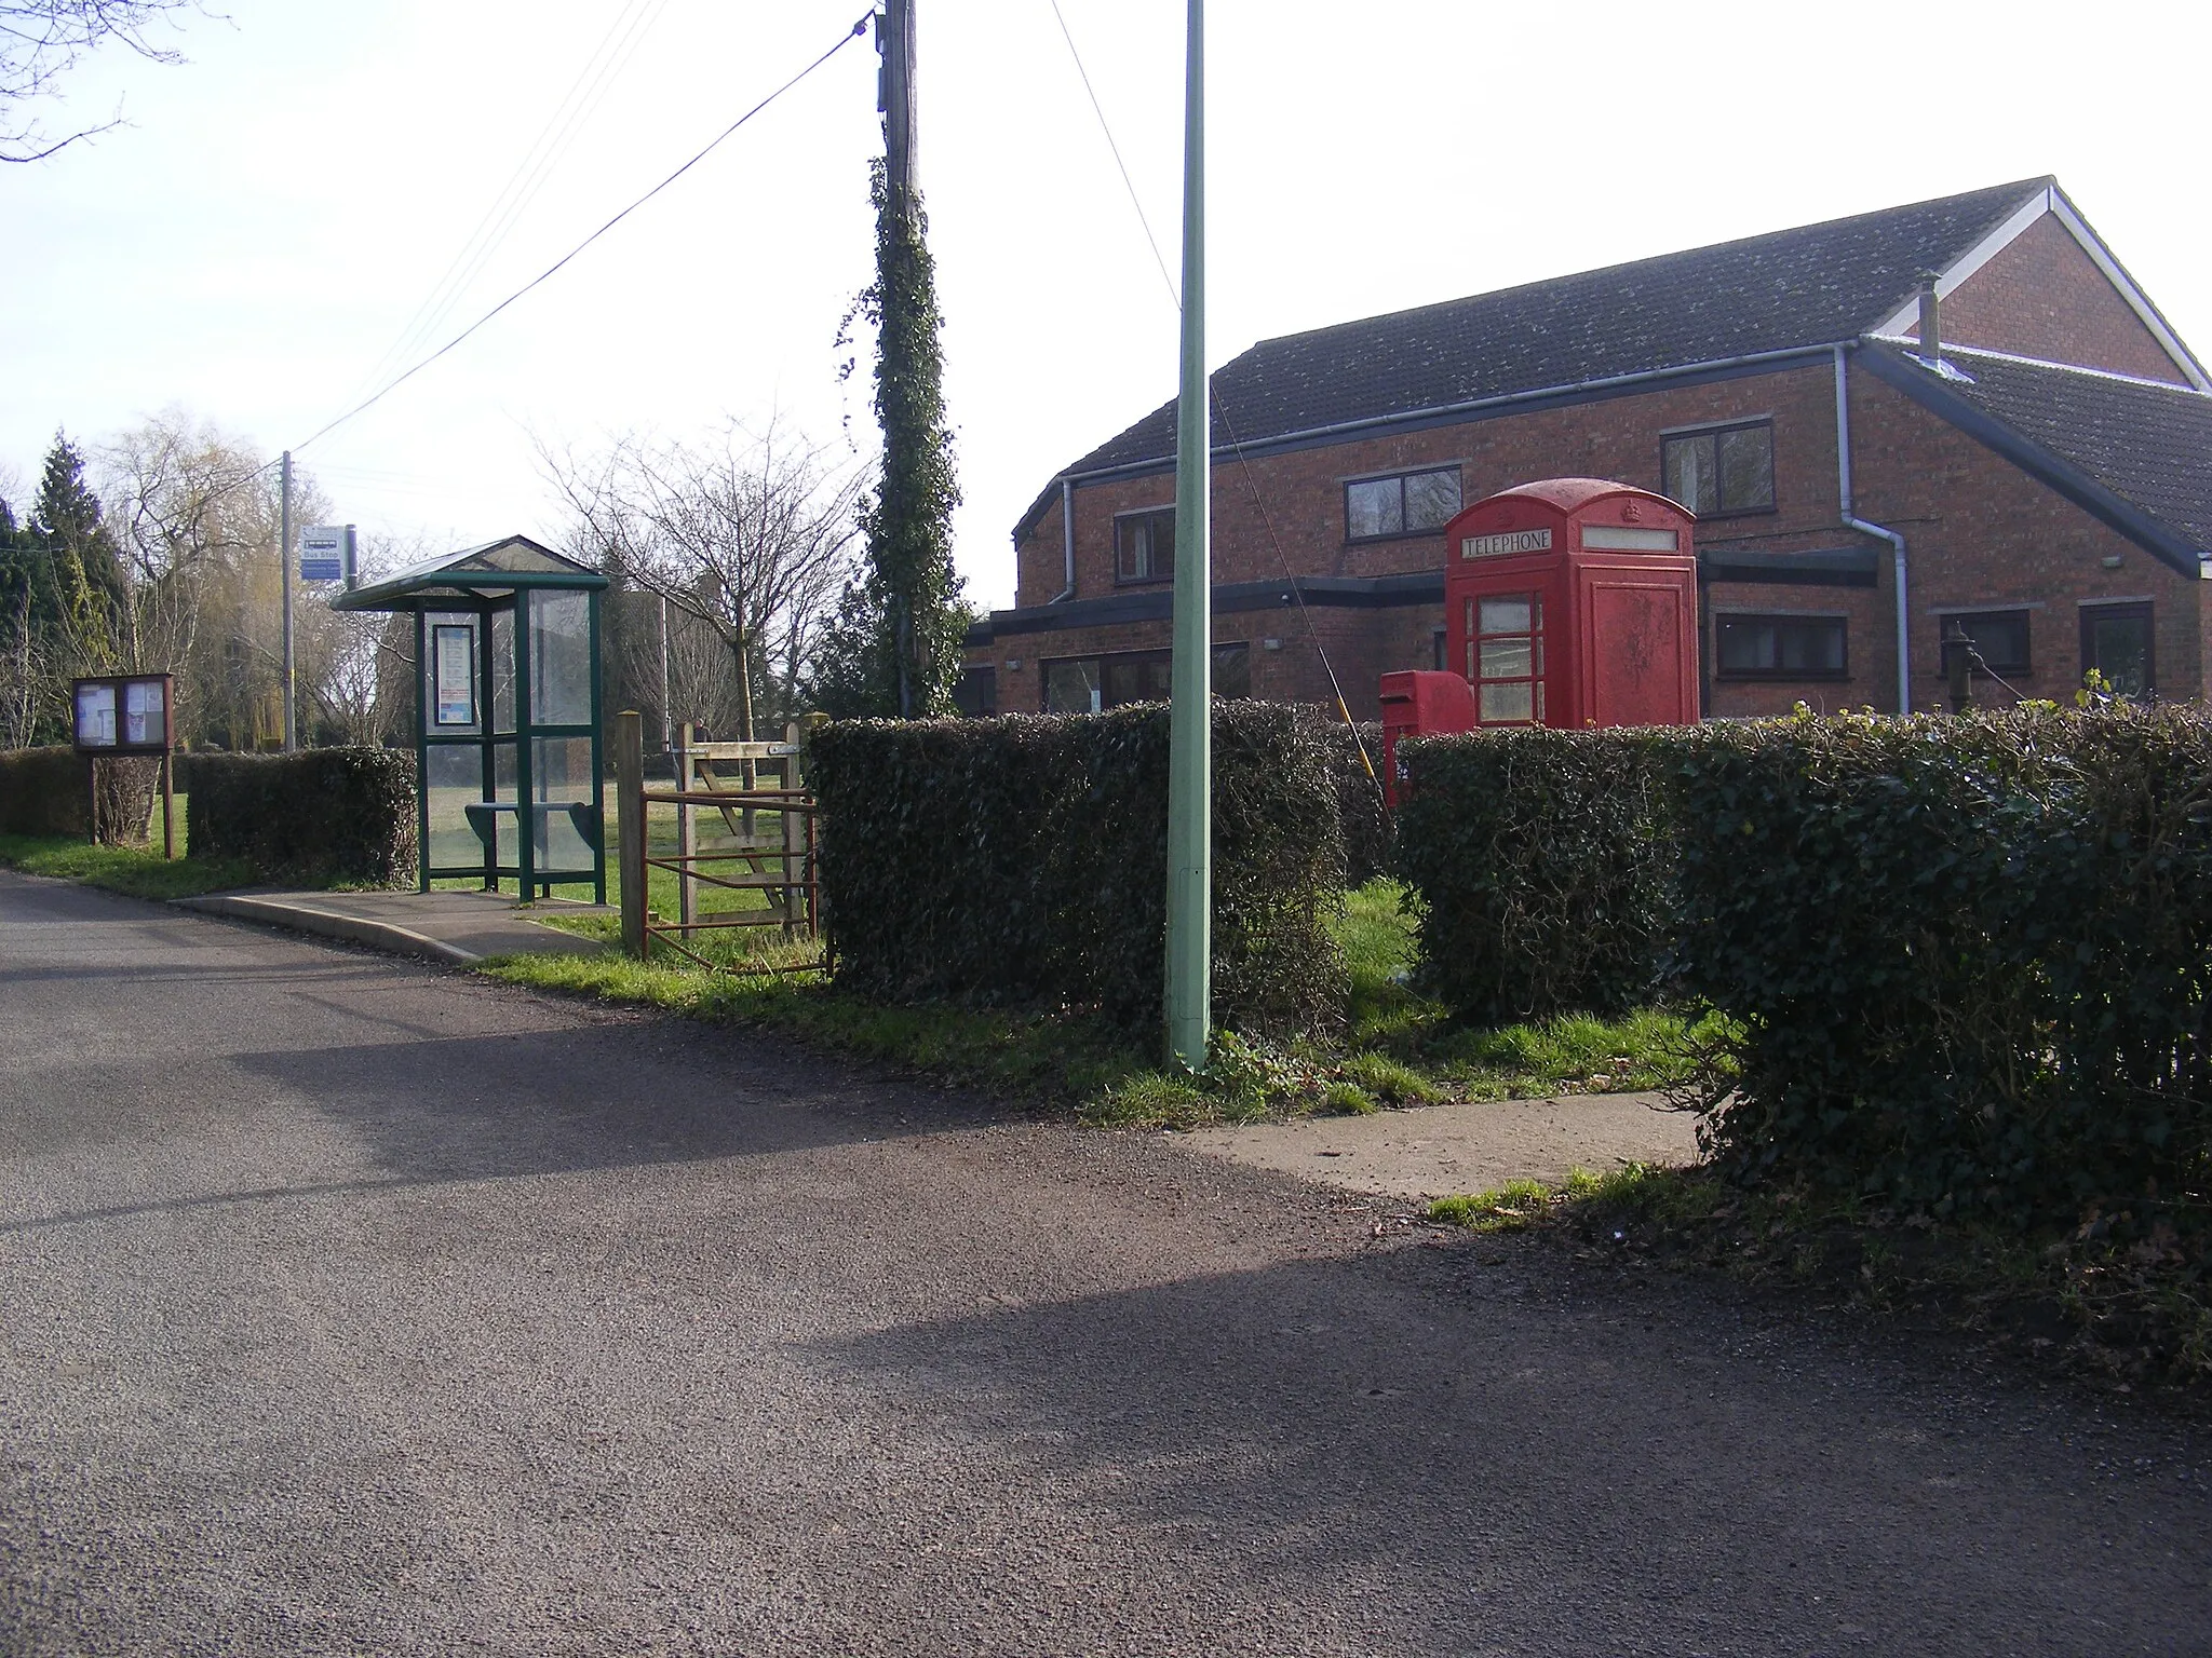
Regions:
[[[1920, 338], [1920, 327], [1909, 329]], [[2046, 212], [1942, 303], [1960, 345], [2188, 385], [2081, 243]]]

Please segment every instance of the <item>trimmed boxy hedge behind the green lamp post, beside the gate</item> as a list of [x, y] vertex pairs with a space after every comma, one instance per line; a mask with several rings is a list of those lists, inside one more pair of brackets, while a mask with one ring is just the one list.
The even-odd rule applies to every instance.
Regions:
[[[841, 984], [889, 1001], [1164, 995], [1168, 710], [838, 721], [814, 732]], [[1343, 1021], [1325, 920], [1345, 873], [1336, 741], [1281, 703], [1214, 705], [1214, 1010], [1259, 1035]]]

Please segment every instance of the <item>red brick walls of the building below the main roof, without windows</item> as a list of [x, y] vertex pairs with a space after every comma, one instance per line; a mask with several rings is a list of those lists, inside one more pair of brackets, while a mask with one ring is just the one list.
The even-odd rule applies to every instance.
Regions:
[[[2068, 239], [2070, 243], [2070, 239]], [[1433, 570], [1442, 537], [1413, 535], [1347, 544], [1343, 482], [1391, 469], [1458, 462], [1473, 502], [1509, 484], [1551, 475], [1621, 478], [1659, 484], [1659, 433], [1719, 420], [1772, 416], [1776, 506], [1772, 513], [1710, 517], [1697, 528], [1705, 550], [1792, 553], [1869, 546], [1840, 526], [1836, 486], [1834, 369], [1827, 363], [1772, 374], [1672, 387], [1606, 402], [1537, 409], [1431, 431], [1365, 438], [1214, 466], [1214, 579], [1281, 575], [1274, 537], [1301, 575], [1385, 575]], [[2199, 584], [2108, 531], [2055, 491], [1978, 444], [1865, 369], [1851, 374], [1851, 431], [1858, 513], [1909, 542], [1913, 705], [1933, 707], [1940, 674], [1940, 608], [2042, 606], [2031, 615], [2033, 672], [2020, 690], [2070, 696], [2079, 683], [2079, 601], [2150, 597], [2157, 604], [2157, 674], [2168, 696], [2201, 696], [2208, 621]], [[1254, 506], [1254, 486], [1265, 515]], [[1113, 517], [1172, 500], [1170, 473], [1110, 480], [1075, 491], [1077, 599], [1117, 592]], [[1272, 535], [1270, 535], [1272, 526]], [[1714, 581], [1705, 590], [1708, 712], [1719, 716], [1814, 707], [1896, 710], [1896, 621], [1891, 559], [1874, 542], [1876, 588], [1816, 588]], [[2104, 559], [2119, 559], [2106, 568]], [[1062, 586], [1060, 504], [1051, 502], [1020, 548], [1022, 604], [1042, 604]], [[1119, 588], [1126, 592], [1128, 588]], [[1849, 676], [1843, 681], [1728, 681], [1714, 672], [1710, 610], [1840, 612], [1849, 623]], [[1329, 683], [1314, 648], [1327, 648], [1358, 718], [1378, 712], [1376, 681], [1398, 668], [1429, 668], [1442, 606], [1354, 610], [1314, 606], [1312, 632], [1296, 608], [1217, 615], [1214, 639], [1252, 641], [1256, 696], [1327, 701]], [[1279, 650], [1265, 650], [1279, 639]], [[1042, 703], [1037, 659], [1168, 643], [1168, 623], [1004, 634], [973, 661], [998, 661], [1004, 710]], [[1022, 661], [1020, 670], [1004, 663]]]

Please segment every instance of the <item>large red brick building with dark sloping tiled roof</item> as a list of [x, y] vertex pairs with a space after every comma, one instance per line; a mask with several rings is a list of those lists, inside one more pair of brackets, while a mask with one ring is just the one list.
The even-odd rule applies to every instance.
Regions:
[[[1953, 628], [2020, 694], [2208, 692], [2212, 378], [2053, 179], [1263, 340], [1212, 389], [1223, 694], [1327, 699], [1318, 639], [1371, 718], [1442, 665], [1444, 520], [1553, 475], [1697, 511], [1708, 714], [1931, 707]], [[1166, 696], [1175, 405], [1013, 539], [964, 701]]]

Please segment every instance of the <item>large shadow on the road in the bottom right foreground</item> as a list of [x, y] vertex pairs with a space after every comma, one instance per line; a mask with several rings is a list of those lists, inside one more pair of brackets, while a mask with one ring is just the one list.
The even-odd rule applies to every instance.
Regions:
[[2031, 1448], [1801, 1329], [1526, 1262], [1296, 1262], [816, 1360], [1020, 1444], [1159, 1552], [1365, 1572], [1385, 1623], [1433, 1638], [1460, 1605], [1482, 1651], [2194, 1651], [2212, 1627], [2203, 1503], [2077, 1501], [2088, 1457], [2035, 1402]]

